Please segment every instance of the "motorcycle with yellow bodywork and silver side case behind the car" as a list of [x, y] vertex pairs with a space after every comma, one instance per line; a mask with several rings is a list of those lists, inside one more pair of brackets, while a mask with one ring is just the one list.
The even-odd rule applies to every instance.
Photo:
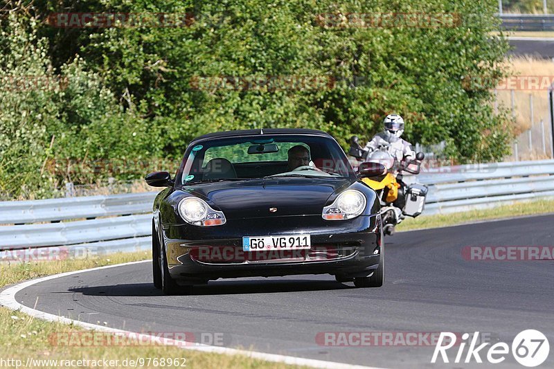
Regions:
[[350, 139], [348, 159], [352, 167], [380, 163], [386, 171], [377, 177], [364, 178], [361, 181], [377, 192], [381, 203], [381, 217], [385, 235], [393, 235], [395, 226], [407, 217], [418, 217], [425, 207], [428, 188], [417, 183], [415, 177], [420, 173], [421, 161], [425, 154], [418, 152], [415, 159], [398, 161], [391, 145], [380, 145], [373, 152], [366, 152], [359, 145], [356, 136]]

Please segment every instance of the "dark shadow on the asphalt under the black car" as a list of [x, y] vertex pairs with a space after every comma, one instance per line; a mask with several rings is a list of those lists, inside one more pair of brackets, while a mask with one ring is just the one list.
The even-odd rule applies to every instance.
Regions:
[[[213, 281], [197, 285], [193, 295], [272, 294], [293, 291], [327, 291], [354, 288], [332, 280], [244, 280]], [[129, 283], [95, 287], [75, 287], [71, 292], [87, 296], [162, 296], [152, 283]]]

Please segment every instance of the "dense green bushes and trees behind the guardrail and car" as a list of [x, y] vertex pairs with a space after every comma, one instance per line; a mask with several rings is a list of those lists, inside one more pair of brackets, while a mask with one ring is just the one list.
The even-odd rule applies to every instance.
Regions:
[[[61, 11], [166, 12], [186, 14], [187, 22], [114, 28], [45, 23], [51, 12]], [[410, 141], [445, 140], [447, 154], [459, 161], [501, 159], [510, 139], [506, 115], [494, 116], [487, 88], [468, 89], [464, 83], [467, 78], [494, 82], [502, 75], [506, 41], [489, 36], [498, 28], [496, 11], [494, 3], [450, 0], [85, 0], [18, 8], [19, 17], [37, 19], [26, 23], [33, 32], [21, 42], [33, 44], [40, 57], [28, 48], [21, 53], [33, 60], [37, 73], [60, 75], [68, 84], [26, 98], [33, 117], [42, 112], [34, 118], [36, 132], [27, 134], [32, 139], [14, 128], [21, 97], [10, 92], [2, 98], [0, 120], [10, 120], [6, 127], [12, 128], [2, 127], [1, 142], [15, 146], [0, 148], [2, 163], [14, 163], [2, 166], [2, 186], [17, 193], [24, 178], [37, 177], [43, 166], [42, 175], [50, 175], [52, 183], [70, 174], [78, 174], [79, 181], [107, 177], [114, 173], [64, 172], [60, 163], [177, 158], [194, 136], [222, 129], [320, 128], [346, 146], [351, 134], [369, 138], [392, 112], [406, 116]], [[431, 28], [348, 23], [349, 13], [391, 12], [452, 15], [455, 23]], [[6, 34], [8, 23], [3, 19]], [[15, 48], [14, 42], [1, 40], [1, 51]], [[14, 73], [16, 65], [26, 68], [13, 51], [3, 54], [3, 73]], [[304, 84], [274, 89], [258, 82], [256, 88], [242, 88], [268, 78]], [[228, 82], [226, 88], [215, 86], [221, 81]], [[43, 165], [45, 160], [55, 164]], [[116, 174], [139, 177], [143, 167], [126, 165]], [[8, 186], [14, 171], [21, 177]]]

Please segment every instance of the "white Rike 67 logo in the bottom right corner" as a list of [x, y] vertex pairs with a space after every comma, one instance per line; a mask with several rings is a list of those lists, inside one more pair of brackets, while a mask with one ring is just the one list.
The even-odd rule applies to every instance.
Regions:
[[[510, 346], [508, 343], [504, 342], [494, 343], [488, 350], [485, 348], [490, 345], [490, 342], [481, 343], [481, 345], [478, 346], [479, 332], [475, 332], [471, 339], [470, 334], [462, 334], [461, 342], [456, 342], [456, 338], [458, 337], [459, 336], [452, 332], [440, 332], [438, 342], [435, 346], [435, 352], [431, 358], [431, 363], [437, 362], [439, 354], [444, 363], [449, 363], [447, 350], [453, 348], [454, 345], [458, 348], [454, 363], [470, 363], [472, 360], [476, 363], [483, 363], [483, 359], [481, 359], [481, 355], [483, 355], [483, 358], [486, 357], [489, 363], [497, 364], [506, 360], [506, 356], [510, 353]], [[445, 342], [447, 343], [443, 345]], [[467, 352], [464, 352], [467, 343], [469, 343], [469, 348], [467, 348]], [[511, 349], [512, 355], [518, 363], [522, 366], [532, 368], [541, 365], [546, 358], [548, 358], [550, 345], [548, 344], [548, 339], [546, 339], [546, 336], [542, 334], [542, 332], [537, 330], [524, 330], [515, 336], [514, 341], [512, 341]]]

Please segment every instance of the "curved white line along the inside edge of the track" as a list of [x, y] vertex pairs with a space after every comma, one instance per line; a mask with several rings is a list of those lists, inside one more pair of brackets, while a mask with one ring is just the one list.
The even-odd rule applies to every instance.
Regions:
[[[317, 360], [317, 359], [305, 359], [301, 357], [292, 357], [292, 356], [286, 356], [286, 355], [280, 355], [280, 354], [269, 354], [266, 352], [257, 352], [257, 351], [249, 351], [249, 350], [239, 350], [235, 348], [223, 348], [219, 346], [211, 346], [211, 345], [204, 345], [202, 343], [196, 343], [196, 342], [187, 342], [187, 341], [181, 341], [176, 339], [159, 339], [156, 336], [152, 336], [150, 334], [145, 333], [138, 333], [138, 332], [130, 332], [126, 330], [116, 330], [114, 328], [105, 327], [103, 325], [96, 325], [91, 323], [84, 323], [82, 321], [75, 321], [73, 319], [65, 318], [64, 316], [57, 316], [54, 314], [48, 314], [46, 312], [41, 312], [36, 309], [31, 309], [30, 307], [26, 307], [24, 305], [21, 305], [15, 300], [15, 294], [17, 294], [22, 289], [25, 289], [27, 287], [30, 287], [32, 285], [36, 285], [40, 282], [45, 282], [46, 280], [53, 280], [56, 278], [62, 278], [66, 276], [72, 276], [73, 274], [78, 273], [87, 273], [89, 271], [97, 271], [102, 269], [110, 269], [110, 268], [116, 268], [116, 267], [124, 267], [126, 265], [132, 265], [132, 264], [139, 264], [143, 262], [151, 262], [151, 260], [142, 260], [139, 262], [126, 262], [124, 264], [116, 264], [116, 265], [107, 265], [106, 267], [96, 267], [91, 269], [84, 269], [80, 271], [68, 271], [66, 273], [60, 273], [55, 274], [53, 276], [47, 276], [42, 278], [37, 278], [33, 280], [28, 280], [26, 282], [21, 282], [15, 286], [8, 287], [7, 289], [4, 289], [3, 291], [0, 291], [0, 305], [4, 307], [8, 307], [8, 309], [16, 310], [19, 312], [22, 312], [24, 314], [28, 314], [30, 316], [33, 316], [33, 318], [39, 318], [44, 321], [51, 321], [56, 323], [64, 323], [64, 324], [73, 324], [77, 325], [79, 327], [82, 327], [86, 330], [96, 330], [99, 332], [107, 332], [111, 334], [115, 334], [117, 336], [129, 336], [132, 335], [136, 337], [139, 340], [149, 340], [150, 342], [153, 341], [161, 341], [165, 345], [175, 345], [180, 348], [184, 348], [185, 350], [195, 350], [195, 351], [202, 351], [202, 352], [209, 352], [213, 354], [227, 354], [227, 355], [243, 355], [245, 357], [251, 357], [253, 359], [260, 359], [265, 361], [272, 361], [275, 363], [285, 363], [289, 365], [296, 365], [296, 366], [309, 366], [311, 368], [328, 368], [328, 369], [381, 369], [381, 368], [375, 368], [370, 366], [358, 366], [358, 365], [351, 365], [346, 363], [337, 363], [334, 361], [323, 361], [323, 360]], [[148, 342], [148, 341], [147, 341]]]

